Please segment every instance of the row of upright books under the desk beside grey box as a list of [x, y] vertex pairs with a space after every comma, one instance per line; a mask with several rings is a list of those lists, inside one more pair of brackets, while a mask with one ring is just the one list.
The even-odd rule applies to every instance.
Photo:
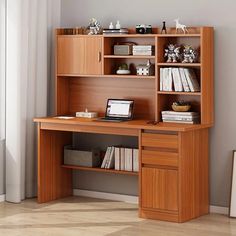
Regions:
[[138, 149], [107, 147], [101, 168], [138, 172]]

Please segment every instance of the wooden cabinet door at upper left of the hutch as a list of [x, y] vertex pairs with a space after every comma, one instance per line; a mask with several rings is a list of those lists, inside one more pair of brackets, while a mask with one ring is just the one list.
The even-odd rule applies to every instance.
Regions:
[[102, 72], [101, 37], [58, 36], [57, 73], [99, 75]]

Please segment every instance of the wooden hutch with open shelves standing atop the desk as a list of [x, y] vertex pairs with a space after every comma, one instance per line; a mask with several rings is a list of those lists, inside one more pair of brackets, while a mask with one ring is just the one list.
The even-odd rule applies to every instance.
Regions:
[[[184, 100], [191, 103], [192, 111], [200, 113], [201, 124], [213, 124], [213, 29], [190, 27], [189, 34], [175, 34], [173, 28], [168, 29], [168, 34], [158, 34], [156, 28], [153, 31], [154, 34], [142, 35], [129, 29], [127, 35], [87, 36], [64, 35], [63, 29], [57, 30], [57, 115], [71, 115], [88, 108], [102, 116], [107, 98], [129, 98], [136, 101], [136, 118], [161, 122], [161, 111], [171, 110], [173, 102]], [[115, 44], [127, 42], [152, 45], [155, 51], [151, 56], [113, 54]], [[198, 48], [199, 60], [167, 63], [164, 49], [170, 43]], [[147, 60], [155, 66], [154, 75], [136, 75], [135, 67]], [[122, 63], [130, 65], [130, 75], [116, 74]], [[200, 92], [160, 91], [161, 68], [193, 69]]]

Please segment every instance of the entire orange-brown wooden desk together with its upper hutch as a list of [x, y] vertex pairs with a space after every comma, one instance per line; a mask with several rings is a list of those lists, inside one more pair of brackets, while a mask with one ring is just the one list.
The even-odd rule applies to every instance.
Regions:
[[[135, 100], [135, 119], [104, 123], [86, 118], [36, 118], [38, 123], [38, 202], [72, 195], [72, 170], [138, 175], [139, 216], [184, 222], [209, 212], [208, 131], [213, 125], [213, 28], [192, 27], [188, 34], [66, 35], [56, 30], [56, 115], [87, 108], [104, 115], [108, 98]], [[121, 42], [151, 44], [152, 56], [113, 55]], [[199, 47], [197, 63], [166, 63], [167, 44]], [[120, 63], [155, 64], [152, 76], [116, 75]], [[160, 68], [189, 67], [197, 74], [200, 92], [160, 91]], [[162, 123], [161, 111], [177, 100], [189, 101], [200, 113], [200, 124]], [[147, 124], [156, 120], [157, 125]], [[63, 165], [63, 147], [73, 132], [136, 136], [139, 172]]]

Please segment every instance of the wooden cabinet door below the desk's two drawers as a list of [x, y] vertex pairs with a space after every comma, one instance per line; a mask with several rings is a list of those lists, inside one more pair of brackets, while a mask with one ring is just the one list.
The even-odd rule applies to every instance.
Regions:
[[142, 207], [178, 210], [178, 171], [142, 168]]

